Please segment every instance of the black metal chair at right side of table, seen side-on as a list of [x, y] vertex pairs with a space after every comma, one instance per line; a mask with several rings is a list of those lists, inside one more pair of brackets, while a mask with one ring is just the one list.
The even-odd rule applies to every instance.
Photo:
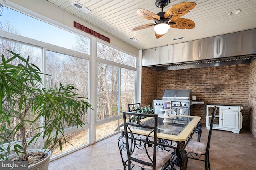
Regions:
[[[213, 121], [214, 121], [215, 115], [216, 115], [216, 110], [217, 110], [217, 107], [214, 106], [212, 109], [212, 119], [211, 119], [211, 123], [210, 123], [207, 145], [202, 142], [190, 140], [185, 149], [188, 154], [188, 158], [204, 161], [206, 170], [208, 170], [208, 168], [209, 168], [209, 170], [211, 169], [210, 161], [209, 161], [209, 153], [210, 153], [210, 142], [211, 142], [211, 137], [212, 137], [212, 127], [213, 127]], [[204, 159], [200, 158], [201, 155], [204, 155]]]

